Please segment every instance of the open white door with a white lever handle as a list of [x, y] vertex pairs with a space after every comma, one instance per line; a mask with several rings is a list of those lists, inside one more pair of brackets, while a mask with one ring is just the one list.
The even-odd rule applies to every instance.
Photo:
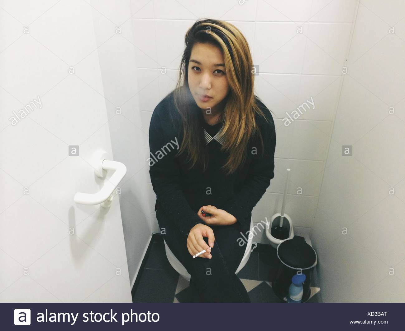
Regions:
[[89, 40], [65, 50], [24, 19], [0, 13], [0, 302], [132, 302], [118, 195], [109, 208], [73, 200], [113, 175], [92, 167], [99, 149], [113, 160], [106, 101], [69, 70], [94, 31], [69, 28]]

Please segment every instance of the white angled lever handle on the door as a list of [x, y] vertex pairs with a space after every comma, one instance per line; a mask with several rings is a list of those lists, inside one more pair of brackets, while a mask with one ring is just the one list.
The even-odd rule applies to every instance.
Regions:
[[105, 177], [104, 170], [115, 170], [109, 180], [104, 183], [104, 186], [97, 193], [81, 193], [75, 194], [74, 200], [76, 203], [83, 205], [98, 205], [102, 207], [109, 207], [111, 200], [113, 199], [113, 192], [117, 188], [119, 182], [126, 174], [126, 167], [124, 163], [106, 160], [107, 153], [104, 151], [98, 151], [94, 154], [94, 172], [98, 177]]

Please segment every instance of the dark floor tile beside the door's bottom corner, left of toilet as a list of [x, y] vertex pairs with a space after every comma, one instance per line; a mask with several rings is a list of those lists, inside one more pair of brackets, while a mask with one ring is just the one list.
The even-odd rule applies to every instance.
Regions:
[[179, 274], [172, 270], [143, 269], [132, 302], [170, 302], [176, 292]]

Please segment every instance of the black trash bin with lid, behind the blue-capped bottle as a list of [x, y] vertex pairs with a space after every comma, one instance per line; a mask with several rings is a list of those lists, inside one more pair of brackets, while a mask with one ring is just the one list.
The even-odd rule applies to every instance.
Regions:
[[280, 261], [277, 272], [272, 281], [273, 292], [279, 299], [287, 302], [288, 288], [294, 274], [305, 274], [303, 283], [303, 297], [301, 302], [305, 302], [311, 295], [311, 275], [312, 270], [318, 262], [315, 250], [305, 242], [305, 238], [294, 236], [285, 240], [277, 246], [277, 257]]

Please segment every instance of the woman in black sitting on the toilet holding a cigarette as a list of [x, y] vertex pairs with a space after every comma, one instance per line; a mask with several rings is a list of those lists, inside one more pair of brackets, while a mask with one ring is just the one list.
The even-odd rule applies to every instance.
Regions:
[[252, 209], [274, 177], [276, 143], [273, 117], [254, 95], [252, 67], [234, 25], [196, 21], [185, 35], [177, 86], [149, 126], [156, 218], [191, 275], [196, 302], [250, 302], [235, 272]]

